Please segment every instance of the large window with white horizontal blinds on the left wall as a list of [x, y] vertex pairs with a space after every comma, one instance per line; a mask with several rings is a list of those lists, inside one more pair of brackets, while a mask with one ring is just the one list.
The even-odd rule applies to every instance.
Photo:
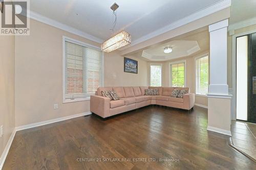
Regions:
[[103, 53], [67, 37], [63, 48], [63, 103], [90, 99], [103, 86]]

